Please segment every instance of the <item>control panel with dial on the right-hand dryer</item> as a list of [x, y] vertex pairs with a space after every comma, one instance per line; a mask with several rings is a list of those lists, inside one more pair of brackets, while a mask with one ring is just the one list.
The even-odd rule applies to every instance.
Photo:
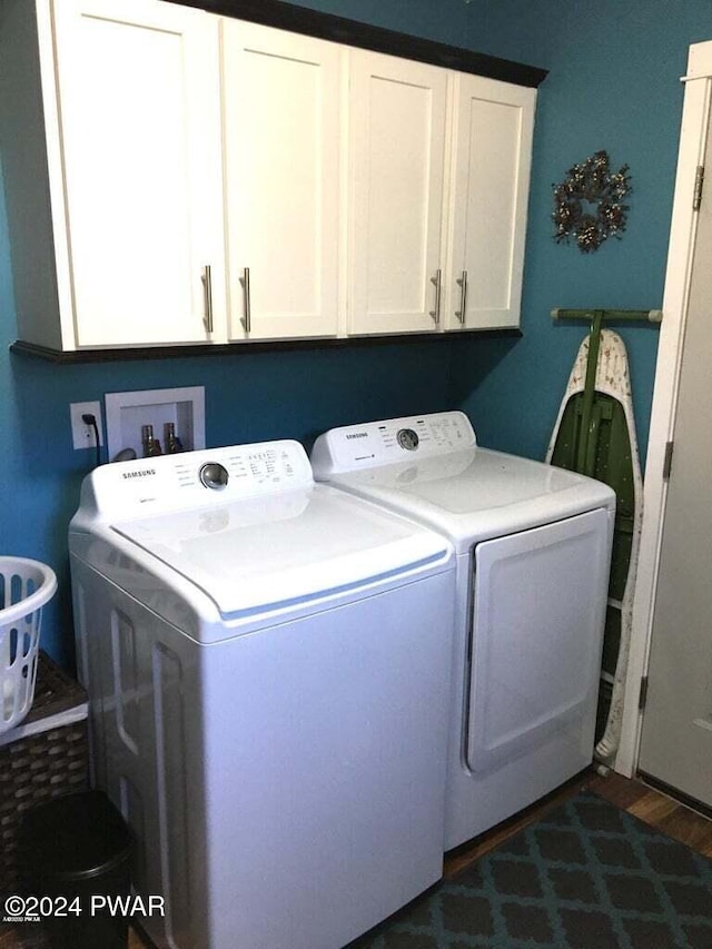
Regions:
[[316, 439], [318, 477], [473, 448], [475, 432], [462, 412], [438, 412], [332, 428]]

